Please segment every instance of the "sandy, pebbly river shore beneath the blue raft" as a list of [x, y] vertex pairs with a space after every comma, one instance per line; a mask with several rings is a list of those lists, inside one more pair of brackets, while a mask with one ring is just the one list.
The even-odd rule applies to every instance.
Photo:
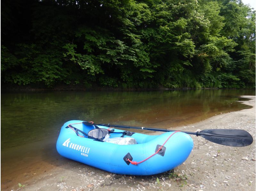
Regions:
[[[243, 97], [251, 99], [243, 103], [253, 108], [217, 113], [212, 118], [175, 129], [244, 129], [255, 140], [255, 96]], [[255, 190], [255, 141], [247, 147], [228, 147], [191, 137], [194, 149], [172, 173], [125, 176], [63, 159], [65, 163], [59, 162], [44, 174], [31, 178], [18, 190]], [[12, 189], [17, 188], [8, 188]]]

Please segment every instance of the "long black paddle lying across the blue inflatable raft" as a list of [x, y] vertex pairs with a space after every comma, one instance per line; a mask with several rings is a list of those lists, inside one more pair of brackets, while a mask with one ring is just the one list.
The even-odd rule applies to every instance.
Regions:
[[[136, 126], [124, 126], [124, 125], [109, 125], [109, 124], [95, 124], [93, 122], [84, 121], [85, 125], [99, 125], [99, 126], [108, 126], [108, 127], [118, 127], [118, 128], [132, 128], [132, 129], [146, 129], [150, 131], [163, 131], [163, 132], [172, 132], [175, 130], [169, 129], [159, 129], [159, 128], [149, 128], [149, 127], [136, 127]], [[247, 131], [240, 129], [205, 129], [200, 132], [188, 132], [180, 131], [186, 134], [193, 134], [196, 136], [201, 136], [204, 139], [231, 147], [245, 147], [252, 144], [253, 138], [252, 135]]]

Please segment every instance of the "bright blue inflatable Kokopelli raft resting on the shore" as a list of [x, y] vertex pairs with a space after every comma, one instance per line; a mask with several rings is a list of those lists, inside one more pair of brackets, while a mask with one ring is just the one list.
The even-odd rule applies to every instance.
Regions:
[[[123, 142], [137, 144], [112, 143], [111, 139], [116, 141], [120, 137], [127, 138], [128, 141]], [[88, 125], [79, 120], [66, 122], [57, 141], [57, 151], [63, 157], [108, 172], [130, 175], [152, 175], [171, 170], [182, 164], [192, 149], [191, 137], [179, 131], [146, 135]]]

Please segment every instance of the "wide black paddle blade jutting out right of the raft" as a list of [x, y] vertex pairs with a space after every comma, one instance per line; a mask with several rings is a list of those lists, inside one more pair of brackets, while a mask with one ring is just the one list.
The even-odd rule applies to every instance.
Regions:
[[252, 144], [252, 135], [240, 129], [205, 129], [198, 132], [208, 141], [231, 147], [245, 147]]

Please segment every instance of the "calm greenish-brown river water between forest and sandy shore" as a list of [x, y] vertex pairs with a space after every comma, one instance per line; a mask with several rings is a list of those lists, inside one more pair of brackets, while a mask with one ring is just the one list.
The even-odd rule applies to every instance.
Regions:
[[1, 94], [1, 189], [46, 172], [63, 159], [56, 151], [69, 120], [170, 128], [250, 108], [238, 96], [255, 90], [43, 92]]

